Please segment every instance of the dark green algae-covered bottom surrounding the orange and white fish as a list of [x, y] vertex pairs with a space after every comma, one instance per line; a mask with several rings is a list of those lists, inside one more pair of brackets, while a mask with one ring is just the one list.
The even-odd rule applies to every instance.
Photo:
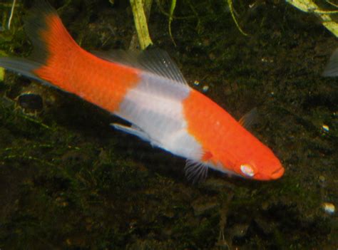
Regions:
[[[76, 41], [89, 49], [128, 48], [128, 4], [86, 4], [57, 6]], [[282, 1], [257, 1], [255, 9], [234, 4], [252, 36], [240, 34], [225, 1], [177, 1], [175, 16], [187, 18], [174, 17], [175, 48], [168, 17], [154, 4], [150, 34], [189, 83], [209, 85], [206, 94], [235, 118], [257, 107], [252, 132], [280, 157], [285, 177], [262, 183], [210, 172], [206, 182], [188, 183], [183, 160], [112, 130], [115, 118], [72, 95], [43, 86], [43, 100], [53, 101], [39, 114], [26, 113], [16, 97], [35, 83], [6, 73], [0, 83], [1, 249], [337, 247], [337, 219], [321, 207], [338, 204], [337, 80], [320, 76], [337, 43], [315, 19]], [[22, 8], [11, 31], [0, 33], [0, 49], [8, 54], [31, 50]], [[238, 225], [247, 228], [242, 236]]]

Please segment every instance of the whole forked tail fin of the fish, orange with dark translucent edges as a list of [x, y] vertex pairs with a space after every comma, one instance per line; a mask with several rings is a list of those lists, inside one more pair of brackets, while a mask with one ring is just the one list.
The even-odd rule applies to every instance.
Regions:
[[24, 29], [34, 46], [31, 56], [3, 57], [0, 66], [62, 88], [59, 83], [63, 80], [60, 76], [66, 73], [65, 61], [81, 48], [66, 31], [56, 10], [44, 0], [34, 1], [24, 19]]

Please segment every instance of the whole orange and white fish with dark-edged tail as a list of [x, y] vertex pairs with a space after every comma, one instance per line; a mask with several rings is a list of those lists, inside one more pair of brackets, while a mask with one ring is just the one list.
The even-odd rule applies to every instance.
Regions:
[[272, 150], [242, 126], [247, 119], [238, 122], [191, 88], [165, 51], [89, 53], [46, 1], [35, 1], [24, 29], [34, 47], [31, 56], [1, 57], [1, 67], [126, 120], [130, 125], [111, 126], [185, 158], [188, 179], [205, 179], [209, 169], [262, 181], [284, 174]]

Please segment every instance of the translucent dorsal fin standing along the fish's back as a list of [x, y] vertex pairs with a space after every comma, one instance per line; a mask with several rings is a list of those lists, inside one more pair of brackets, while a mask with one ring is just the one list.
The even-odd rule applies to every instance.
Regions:
[[158, 48], [148, 51], [94, 51], [93, 54], [106, 61], [140, 68], [143, 71], [188, 85], [180, 69], [168, 53]]

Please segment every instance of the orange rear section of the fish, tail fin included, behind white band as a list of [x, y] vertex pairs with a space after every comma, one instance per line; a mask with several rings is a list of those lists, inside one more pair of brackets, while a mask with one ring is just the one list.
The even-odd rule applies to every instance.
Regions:
[[25, 30], [34, 46], [32, 55], [0, 57], [0, 66], [78, 95], [111, 113], [140, 80], [137, 69], [103, 60], [80, 48], [44, 0], [36, 0], [29, 11]]

